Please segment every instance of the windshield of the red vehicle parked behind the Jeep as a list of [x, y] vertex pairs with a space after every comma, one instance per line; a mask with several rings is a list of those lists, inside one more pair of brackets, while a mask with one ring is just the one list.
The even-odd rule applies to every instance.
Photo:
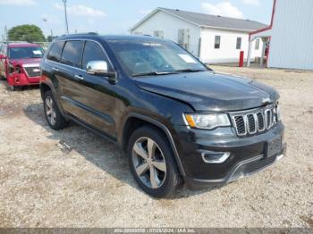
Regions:
[[9, 58], [11, 59], [42, 58], [43, 55], [44, 49], [39, 46], [9, 48]]

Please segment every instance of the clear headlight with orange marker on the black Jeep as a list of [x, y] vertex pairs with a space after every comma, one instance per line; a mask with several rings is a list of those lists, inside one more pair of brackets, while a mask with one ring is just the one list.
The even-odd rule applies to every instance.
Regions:
[[226, 113], [186, 113], [185, 119], [191, 128], [213, 130], [217, 127], [231, 126]]

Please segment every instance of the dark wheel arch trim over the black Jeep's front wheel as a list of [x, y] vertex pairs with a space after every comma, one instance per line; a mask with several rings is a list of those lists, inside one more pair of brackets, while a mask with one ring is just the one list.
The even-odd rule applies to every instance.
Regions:
[[177, 164], [181, 175], [184, 177], [185, 171], [183, 170], [182, 162], [177, 152], [177, 148], [173, 141], [173, 137], [172, 137], [170, 130], [168, 130], [165, 124], [151, 117], [142, 115], [140, 113], [129, 113], [127, 115], [127, 117], [125, 118], [125, 121], [123, 122], [123, 128], [122, 128], [123, 131], [122, 131], [122, 136], [121, 136], [121, 144], [122, 144], [123, 150], [127, 148], [128, 139], [131, 133], [143, 125], [151, 125], [153, 127], [156, 127], [158, 130], [161, 130], [165, 134], [165, 137], [170, 143], [170, 146], [174, 155], [175, 163]]

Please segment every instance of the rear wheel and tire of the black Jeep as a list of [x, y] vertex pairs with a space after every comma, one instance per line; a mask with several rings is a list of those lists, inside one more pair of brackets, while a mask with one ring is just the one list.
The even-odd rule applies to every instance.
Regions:
[[55, 103], [55, 97], [51, 91], [47, 91], [44, 95], [44, 111], [51, 129], [63, 130], [67, 126], [68, 123]]

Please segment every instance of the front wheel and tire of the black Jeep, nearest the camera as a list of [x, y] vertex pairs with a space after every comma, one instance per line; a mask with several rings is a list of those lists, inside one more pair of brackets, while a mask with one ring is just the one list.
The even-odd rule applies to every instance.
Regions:
[[154, 197], [169, 196], [179, 184], [171, 146], [160, 130], [135, 130], [128, 146], [131, 173], [140, 188]]

